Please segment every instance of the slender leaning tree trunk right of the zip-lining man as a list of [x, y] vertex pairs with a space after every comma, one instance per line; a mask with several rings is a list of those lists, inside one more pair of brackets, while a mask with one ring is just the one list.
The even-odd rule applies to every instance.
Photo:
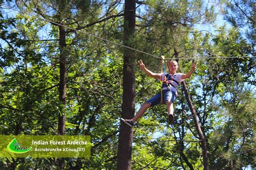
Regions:
[[187, 85], [185, 83], [185, 81], [182, 82], [182, 86], [183, 86], [183, 90], [184, 90], [184, 93], [185, 93], [185, 96], [186, 96], [186, 100], [187, 100], [187, 103], [188, 103], [188, 106], [190, 107], [190, 110], [191, 110], [191, 114], [193, 116], [193, 119], [194, 119], [194, 124], [196, 125], [196, 129], [197, 129], [197, 132], [199, 134], [199, 139], [201, 140], [201, 148], [203, 150], [203, 164], [204, 164], [204, 169], [209, 169], [208, 167], [208, 154], [207, 154], [207, 145], [206, 145], [206, 139], [204, 137], [204, 134], [203, 132], [201, 131], [201, 127], [199, 125], [199, 121], [198, 121], [198, 118], [197, 118], [197, 112], [196, 110], [194, 109], [194, 105], [190, 99], [190, 95], [189, 95], [189, 92], [188, 92], [188, 89], [187, 89]]

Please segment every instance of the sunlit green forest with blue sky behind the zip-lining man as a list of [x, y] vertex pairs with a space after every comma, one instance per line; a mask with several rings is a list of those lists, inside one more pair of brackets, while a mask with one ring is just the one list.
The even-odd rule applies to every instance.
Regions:
[[[1, 134], [90, 135], [92, 143], [90, 158], [1, 158], [1, 169], [122, 169], [118, 155], [126, 153], [119, 139], [120, 117], [127, 109], [123, 96], [134, 93], [128, 116], [134, 115], [160, 89], [136, 61], [143, 60], [158, 73], [160, 60], [94, 36], [178, 60], [183, 73], [199, 58], [196, 71], [178, 91], [174, 125], [167, 124], [166, 107], [159, 105], [128, 132], [132, 150], [126, 167], [256, 167], [253, 1], [0, 2]], [[131, 21], [125, 18], [125, 4], [135, 6], [133, 30], [125, 24]], [[217, 24], [219, 17], [230, 26]], [[126, 67], [132, 68], [131, 74]], [[126, 83], [129, 78], [134, 81]], [[134, 91], [126, 90], [130, 85]], [[202, 155], [193, 116], [200, 124], [207, 157]]]

